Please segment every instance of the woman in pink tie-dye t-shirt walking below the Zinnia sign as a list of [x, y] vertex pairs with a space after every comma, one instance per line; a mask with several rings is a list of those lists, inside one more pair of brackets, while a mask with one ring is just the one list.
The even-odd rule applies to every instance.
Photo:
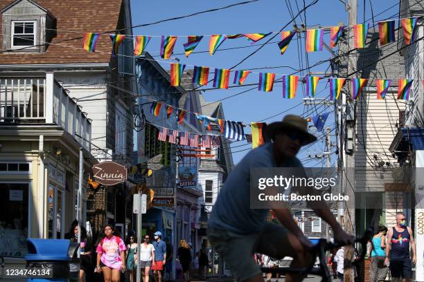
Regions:
[[125, 271], [125, 243], [120, 236], [114, 234], [112, 225], [103, 228], [105, 237], [98, 243], [95, 272], [102, 272], [105, 282], [121, 281], [121, 270]]

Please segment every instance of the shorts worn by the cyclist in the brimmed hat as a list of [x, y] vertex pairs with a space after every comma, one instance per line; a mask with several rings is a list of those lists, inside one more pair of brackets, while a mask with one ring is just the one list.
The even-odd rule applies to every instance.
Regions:
[[288, 230], [275, 223], [265, 223], [263, 229], [252, 234], [236, 234], [208, 227], [208, 238], [237, 281], [245, 281], [262, 273], [254, 260], [255, 253], [283, 259], [277, 254], [276, 245], [288, 243]]

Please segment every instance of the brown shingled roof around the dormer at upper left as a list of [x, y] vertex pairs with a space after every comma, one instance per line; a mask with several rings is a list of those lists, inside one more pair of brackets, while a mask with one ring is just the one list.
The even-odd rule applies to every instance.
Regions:
[[[27, 0], [56, 19], [56, 37], [46, 53], [0, 53], [1, 64], [78, 64], [108, 63], [112, 50], [108, 35], [101, 35], [96, 53], [82, 50], [82, 32], [109, 32], [118, 28], [122, 3], [129, 0]], [[0, 9], [19, 1], [0, 0]], [[123, 10], [123, 8], [122, 8]], [[122, 21], [125, 22], [125, 21]], [[2, 28], [0, 15], [0, 30]], [[47, 30], [54, 32], [55, 30]], [[71, 31], [71, 32], [69, 32]], [[122, 33], [131, 34], [131, 30]], [[1, 37], [0, 37], [1, 39]], [[2, 46], [2, 44], [0, 44]]]

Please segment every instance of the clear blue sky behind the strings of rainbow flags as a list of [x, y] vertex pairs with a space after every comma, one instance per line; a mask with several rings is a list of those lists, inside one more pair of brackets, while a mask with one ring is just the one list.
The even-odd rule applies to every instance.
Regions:
[[[311, 0], [305, 0], [306, 6], [311, 3]], [[240, 3], [242, 0], [214, 0], [214, 1], [194, 1], [194, 0], [181, 0], [181, 1], [140, 1], [132, 0], [132, 24], [133, 26], [143, 23], [150, 23], [159, 21], [161, 19], [168, 19], [171, 17], [178, 17], [182, 15], [188, 15], [193, 12], [200, 12], [203, 10], [209, 10], [211, 8], [220, 8], [228, 6], [231, 3]], [[290, 3], [292, 12], [294, 15], [298, 13], [299, 9], [303, 8], [303, 1], [287, 0]], [[363, 2], [359, 1], [358, 8], [358, 22], [361, 23], [364, 19], [364, 7]], [[366, 1], [365, 7], [365, 19], [371, 19], [371, 6], [373, 4], [373, 14], [378, 15], [380, 12], [393, 6], [398, 1], [387, 0], [387, 1]], [[376, 21], [381, 19], [387, 19], [396, 15], [399, 11], [399, 7], [395, 6], [390, 8], [381, 15], [376, 16]], [[168, 21], [165, 23], [154, 24], [152, 26], [146, 26], [143, 28], [134, 28], [134, 34], [136, 35], [177, 35], [181, 36], [177, 39], [174, 53], [184, 53], [182, 44], [186, 43], [187, 35], [213, 35], [213, 34], [238, 34], [238, 33], [256, 33], [256, 32], [271, 32], [279, 31], [285, 26], [292, 17], [286, 1], [275, 1], [275, 0], [259, 0], [253, 3], [247, 3], [241, 6], [235, 6], [226, 10], [219, 10], [210, 12], [194, 17], [188, 17], [186, 19], [178, 19], [175, 21]], [[301, 23], [305, 23], [305, 17], [303, 12], [301, 17], [297, 17], [296, 23], [298, 26]], [[335, 26], [338, 23], [343, 22], [347, 25], [347, 12], [344, 9], [343, 3], [337, 0], [319, 0], [317, 4], [308, 8], [306, 11], [306, 26], [313, 27], [320, 24], [321, 26]], [[292, 30], [293, 24], [285, 28], [285, 30]], [[269, 37], [271, 37], [270, 35]], [[269, 38], [267, 37], [267, 38]], [[263, 39], [265, 41], [267, 38]], [[271, 42], [278, 42], [281, 40], [281, 35], [277, 35]], [[247, 57], [261, 45], [263, 41], [258, 41], [256, 44], [251, 45], [245, 38], [239, 39], [227, 39], [220, 46], [222, 48], [233, 48], [233, 47], [246, 47], [237, 48], [234, 50], [222, 50], [211, 56], [209, 53], [191, 54], [188, 58], [185, 55], [174, 55], [178, 57], [180, 63], [195, 66], [210, 66], [211, 68], [231, 68], [238, 64], [242, 59]], [[324, 36], [324, 41], [328, 43], [329, 35]], [[300, 45], [299, 45], [300, 44]], [[161, 66], [169, 69], [169, 63], [175, 62], [168, 60], [164, 61], [159, 57], [160, 37], [152, 37], [152, 40], [148, 44], [146, 50], [155, 57]], [[300, 49], [301, 48], [301, 49]], [[195, 49], [196, 51], [207, 51], [209, 50], [209, 37], [204, 37], [200, 44]], [[330, 53], [327, 50], [321, 52], [308, 53], [308, 64], [311, 66], [315, 62], [319, 62], [324, 59], [330, 58]], [[321, 64], [310, 71], [312, 73], [324, 73], [329, 64]], [[271, 68], [272, 67], [272, 68]], [[279, 68], [275, 68], [279, 67]], [[267, 44], [261, 48], [257, 53], [245, 60], [240, 66], [234, 68], [245, 69], [245, 68], [263, 68], [260, 70], [254, 70], [254, 72], [270, 72], [277, 73], [280, 75], [292, 74], [293, 68], [305, 68], [306, 67], [306, 53], [304, 50], [304, 39], [303, 35], [299, 39], [292, 39], [288, 50], [284, 55], [280, 55], [279, 47], [276, 43]], [[187, 68], [193, 68], [193, 66], [187, 66]], [[328, 69], [329, 70], [329, 69]], [[210, 74], [209, 79], [212, 78], [213, 74]], [[298, 75], [308, 75], [306, 71], [298, 73]], [[281, 76], [276, 75], [276, 79]], [[230, 85], [232, 86], [233, 75], [230, 77]], [[316, 97], [324, 98], [328, 96], [328, 88], [326, 88], [326, 79], [322, 79], [324, 82], [320, 82], [317, 88]], [[251, 73], [249, 75], [246, 84], [258, 83], [258, 74]], [[212, 88], [212, 83], [204, 88]], [[231, 95], [235, 95], [242, 91], [246, 91], [254, 86], [236, 87], [229, 88], [228, 90], [206, 90], [204, 91], [204, 97], [206, 101], [213, 102], [224, 99]], [[227, 120], [236, 120], [240, 122], [257, 122], [265, 118], [270, 118], [273, 115], [287, 111], [294, 107], [294, 109], [288, 110], [287, 113], [294, 113], [303, 115], [305, 117], [312, 117], [317, 113], [333, 111], [333, 107], [325, 109], [324, 106], [314, 110], [311, 107], [306, 107], [302, 102], [302, 98], [305, 97], [306, 86], [299, 82], [296, 97], [293, 100], [286, 100], [282, 97], [281, 83], [274, 85], [274, 91], [270, 93], [259, 92], [256, 89], [248, 91], [246, 93], [236, 95], [235, 97], [223, 100], [225, 118]], [[319, 106], [318, 106], [319, 107]], [[281, 120], [284, 114], [276, 115], [274, 118], [266, 120], [266, 122], [273, 122]], [[330, 114], [326, 126], [334, 128], [334, 115]], [[311, 128], [314, 133], [315, 128]], [[246, 128], [246, 132], [249, 132], [249, 127]], [[335, 133], [335, 131], [333, 131]], [[322, 135], [317, 133], [316, 135]], [[333, 137], [333, 142], [335, 138]], [[233, 160], [236, 164], [245, 153], [249, 151], [250, 145], [245, 142], [233, 143]], [[302, 160], [303, 164], [307, 167], [318, 166], [324, 159], [312, 159], [308, 158], [308, 153], [315, 155], [325, 151], [324, 138], [319, 139], [312, 147], [305, 149], [299, 153], [298, 157]], [[333, 160], [335, 156], [333, 155]], [[334, 162], [333, 162], [334, 163]]]

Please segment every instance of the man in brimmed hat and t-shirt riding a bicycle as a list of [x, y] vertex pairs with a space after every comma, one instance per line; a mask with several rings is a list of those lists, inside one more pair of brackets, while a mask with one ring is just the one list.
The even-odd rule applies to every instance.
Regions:
[[[308, 133], [308, 123], [297, 115], [286, 115], [265, 129], [272, 142], [245, 156], [231, 171], [213, 206], [208, 236], [211, 245], [223, 257], [238, 281], [263, 282], [253, 254], [258, 252], [274, 259], [293, 258], [292, 267], [309, 267], [315, 262], [308, 249], [312, 244], [294, 222], [290, 209], [275, 208], [282, 225], [267, 223], [267, 209], [250, 209], [250, 169], [254, 167], [302, 167], [296, 158], [299, 149], [317, 138]], [[313, 191], [300, 191], [303, 194]], [[314, 203], [315, 213], [332, 227], [335, 241], [351, 243], [324, 203]], [[285, 281], [301, 281], [301, 274], [288, 274]]]

